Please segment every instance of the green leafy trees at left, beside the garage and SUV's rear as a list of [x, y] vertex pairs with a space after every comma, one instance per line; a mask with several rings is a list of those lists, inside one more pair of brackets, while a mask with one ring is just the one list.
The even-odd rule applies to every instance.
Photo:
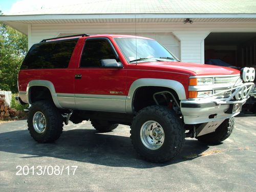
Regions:
[[27, 51], [27, 36], [0, 22], [0, 89], [17, 93], [17, 75]]

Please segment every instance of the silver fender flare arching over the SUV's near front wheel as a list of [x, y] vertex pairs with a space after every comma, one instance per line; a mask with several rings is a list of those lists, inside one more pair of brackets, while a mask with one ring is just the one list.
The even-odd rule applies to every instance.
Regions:
[[138, 88], [140, 87], [166, 87], [173, 89], [180, 100], [186, 99], [186, 93], [183, 85], [176, 80], [169, 80], [169, 79], [155, 79], [155, 78], [141, 78], [135, 80], [130, 87], [127, 100], [126, 100], [126, 112], [127, 113], [133, 113], [133, 102], [135, 99], [135, 94]]

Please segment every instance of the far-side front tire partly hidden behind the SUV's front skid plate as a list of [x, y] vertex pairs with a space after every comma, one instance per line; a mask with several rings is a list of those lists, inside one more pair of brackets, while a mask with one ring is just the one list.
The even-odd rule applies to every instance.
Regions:
[[198, 141], [207, 144], [219, 144], [227, 139], [234, 129], [234, 117], [225, 119], [215, 132], [196, 137]]

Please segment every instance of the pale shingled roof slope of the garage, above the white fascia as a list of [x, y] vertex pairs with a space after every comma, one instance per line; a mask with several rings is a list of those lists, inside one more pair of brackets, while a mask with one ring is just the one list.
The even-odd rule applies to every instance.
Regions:
[[82, 4], [42, 6], [9, 15], [131, 14], [131, 13], [256, 13], [255, 0], [87, 0]]

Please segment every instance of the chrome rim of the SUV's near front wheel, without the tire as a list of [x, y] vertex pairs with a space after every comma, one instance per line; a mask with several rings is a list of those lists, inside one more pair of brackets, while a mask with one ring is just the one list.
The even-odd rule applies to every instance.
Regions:
[[140, 129], [140, 139], [145, 147], [150, 150], [158, 150], [164, 142], [164, 131], [156, 121], [145, 122]]

